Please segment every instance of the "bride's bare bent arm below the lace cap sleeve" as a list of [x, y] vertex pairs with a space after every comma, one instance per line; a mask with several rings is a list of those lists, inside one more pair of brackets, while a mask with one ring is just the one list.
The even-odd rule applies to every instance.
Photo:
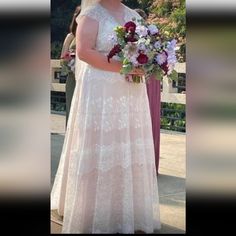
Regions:
[[[107, 61], [107, 56], [95, 50], [98, 34], [98, 22], [87, 16], [82, 16], [76, 30], [76, 50], [80, 60], [101, 70], [120, 72], [122, 64], [119, 61]], [[106, 42], [104, 42], [106, 43]]]

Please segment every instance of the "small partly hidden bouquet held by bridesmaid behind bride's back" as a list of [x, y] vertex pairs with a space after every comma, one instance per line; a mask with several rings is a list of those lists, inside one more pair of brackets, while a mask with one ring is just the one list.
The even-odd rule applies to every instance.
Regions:
[[67, 76], [70, 72], [75, 73], [75, 49], [70, 49], [61, 57], [61, 73]]

